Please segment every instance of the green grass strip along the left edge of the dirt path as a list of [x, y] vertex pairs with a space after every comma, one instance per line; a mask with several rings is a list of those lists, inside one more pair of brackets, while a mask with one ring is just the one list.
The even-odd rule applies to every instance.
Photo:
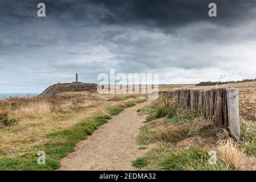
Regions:
[[34, 151], [46, 153], [46, 164], [37, 163], [37, 153], [31, 152], [16, 158], [0, 158], [0, 170], [54, 170], [60, 167], [60, 159], [74, 151], [79, 140], [86, 139], [98, 126], [107, 123], [107, 119], [92, 122], [80, 122], [76, 125], [46, 135], [46, 142], [34, 147]]

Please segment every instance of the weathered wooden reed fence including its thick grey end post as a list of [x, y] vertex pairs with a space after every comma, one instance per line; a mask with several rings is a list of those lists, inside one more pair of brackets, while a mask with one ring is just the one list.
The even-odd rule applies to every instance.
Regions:
[[209, 90], [182, 89], [167, 93], [177, 104], [196, 110], [216, 126], [224, 126], [233, 137], [240, 137], [238, 90], [218, 88]]

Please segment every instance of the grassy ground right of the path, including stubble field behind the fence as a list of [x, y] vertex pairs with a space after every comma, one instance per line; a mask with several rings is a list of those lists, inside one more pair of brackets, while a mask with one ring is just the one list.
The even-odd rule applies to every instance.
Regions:
[[[133, 161], [143, 170], [255, 170], [256, 155], [256, 82], [218, 86], [161, 85], [160, 90], [235, 87], [239, 90], [241, 140], [229, 138], [222, 128], [206, 121], [193, 110], [184, 109], [160, 96], [139, 110], [147, 115], [137, 142], [141, 148], [155, 144], [145, 156]], [[217, 154], [210, 165], [209, 151]]]

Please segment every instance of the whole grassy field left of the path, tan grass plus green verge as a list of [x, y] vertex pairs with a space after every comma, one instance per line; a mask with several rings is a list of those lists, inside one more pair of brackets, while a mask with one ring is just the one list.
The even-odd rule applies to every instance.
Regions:
[[[61, 93], [0, 101], [0, 170], [52, 170], [111, 115], [145, 101], [139, 94]], [[46, 165], [38, 165], [38, 151]]]

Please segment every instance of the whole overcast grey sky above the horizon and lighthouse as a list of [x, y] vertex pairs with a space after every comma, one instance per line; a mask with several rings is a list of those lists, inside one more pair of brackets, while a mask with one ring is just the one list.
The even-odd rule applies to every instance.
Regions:
[[255, 0], [0, 0], [0, 93], [42, 92], [76, 72], [97, 83], [109, 68], [162, 84], [256, 78], [255, 15]]

